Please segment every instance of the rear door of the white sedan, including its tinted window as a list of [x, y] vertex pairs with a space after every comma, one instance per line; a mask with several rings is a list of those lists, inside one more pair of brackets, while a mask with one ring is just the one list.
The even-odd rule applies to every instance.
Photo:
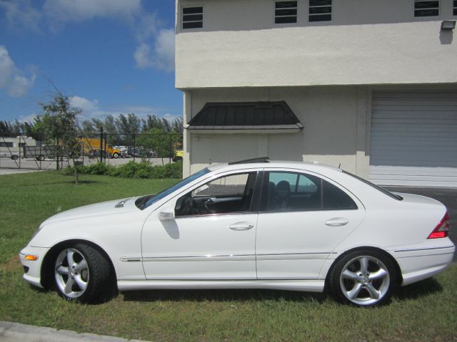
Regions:
[[365, 217], [363, 205], [319, 175], [263, 175], [256, 239], [258, 279], [317, 279], [323, 262]]

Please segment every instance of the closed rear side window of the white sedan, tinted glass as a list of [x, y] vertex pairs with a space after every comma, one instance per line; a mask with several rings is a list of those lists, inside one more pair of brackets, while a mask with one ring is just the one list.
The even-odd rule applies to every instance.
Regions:
[[262, 212], [357, 209], [346, 192], [313, 175], [297, 172], [265, 172]]

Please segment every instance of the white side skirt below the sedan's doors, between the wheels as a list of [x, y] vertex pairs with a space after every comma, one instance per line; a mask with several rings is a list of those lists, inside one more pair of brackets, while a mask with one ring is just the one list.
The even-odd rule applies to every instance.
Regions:
[[323, 292], [324, 280], [118, 280], [119, 291], [150, 289], [274, 289]]

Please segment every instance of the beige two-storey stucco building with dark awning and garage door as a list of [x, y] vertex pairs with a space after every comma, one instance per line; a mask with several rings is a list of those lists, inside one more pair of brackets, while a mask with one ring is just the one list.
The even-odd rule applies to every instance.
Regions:
[[457, 187], [457, 0], [177, 0], [184, 175], [269, 156]]

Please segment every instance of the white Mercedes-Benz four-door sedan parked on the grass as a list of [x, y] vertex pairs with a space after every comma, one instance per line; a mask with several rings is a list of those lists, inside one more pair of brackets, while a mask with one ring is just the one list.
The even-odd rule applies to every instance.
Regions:
[[157, 195], [70, 209], [20, 252], [24, 279], [94, 303], [111, 289], [329, 291], [381, 304], [448, 266], [446, 207], [340, 169], [211, 165]]

